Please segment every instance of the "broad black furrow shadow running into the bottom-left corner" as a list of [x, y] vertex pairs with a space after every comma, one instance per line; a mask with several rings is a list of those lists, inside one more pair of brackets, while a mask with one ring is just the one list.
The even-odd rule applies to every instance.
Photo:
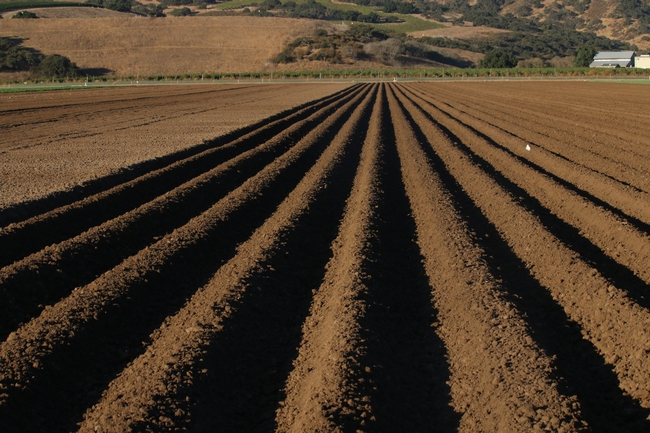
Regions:
[[[342, 116], [335, 122], [264, 194], [250, 200], [198, 243], [179, 252], [162, 272], [143, 270], [141, 282], [107, 305], [104, 315], [77, 331], [69, 344], [57, 347], [34, 372], [27, 388], [12, 392], [7, 403], [0, 406], [3, 431], [75, 429], [85, 410], [99, 400], [108, 384], [129, 361], [144, 352], [143, 342], [149, 335], [210, 280], [221, 264], [235, 254], [237, 245], [295, 188], [346, 120]], [[311, 242], [308, 237], [304, 239]], [[291, 267], [290, 271], [296, 269]]]

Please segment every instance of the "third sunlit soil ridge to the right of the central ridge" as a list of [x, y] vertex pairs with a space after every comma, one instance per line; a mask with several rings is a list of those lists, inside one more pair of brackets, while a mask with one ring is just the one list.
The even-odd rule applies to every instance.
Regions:
[[[563, 185], [548, 173], [530, 167], [523, 158], [513, 155], [494, 139], [464, 124], [463, 119], [453, 117], [426, 101], [422, 102], [422, 106], [436, 114], [440, 113], [435, 115], [440, 125], [449, 128], [451, 133], [486, 164], [520, 185], [543, 207], [574, 226], [582, 237], [593, 243], [611, 260], [628, 268], [646, 284], [650, 284], [650, 271], [647, 268], [647, 263], [650, 263], [650, 237], [634, 227], [640, 225], [645, 228], [645, 224], [636, 221], [633, 226], [629, 220], [621, 219], [615, 208], [599, 206], [602, 203], [598, 203], [597, 199], [576, 194], [570, 184]], [[647, 301], [641, 302], [645, 305]]]

